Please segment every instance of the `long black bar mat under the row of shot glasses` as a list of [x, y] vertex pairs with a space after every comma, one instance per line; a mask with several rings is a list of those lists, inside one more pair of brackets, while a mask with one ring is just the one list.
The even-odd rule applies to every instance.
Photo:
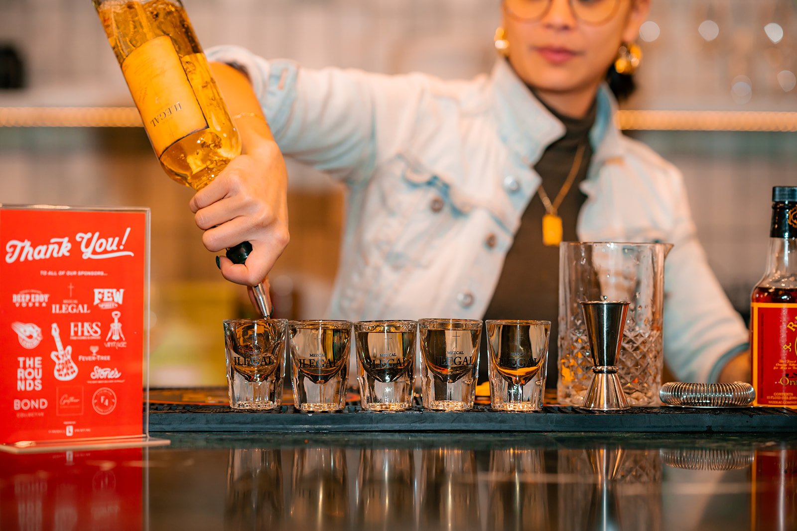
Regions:
[[336, 413], [300, 413], [292, 405], [271, 412], [241, 412], [226, 405], [150, 404], [155, 431], [624, 431], [797, 432], [797, 412], [786, 408], [631, 408], [582, 412], [545, 406], [508, 413], [477, 407], [467, 412], [367, 412], [349, 405]]

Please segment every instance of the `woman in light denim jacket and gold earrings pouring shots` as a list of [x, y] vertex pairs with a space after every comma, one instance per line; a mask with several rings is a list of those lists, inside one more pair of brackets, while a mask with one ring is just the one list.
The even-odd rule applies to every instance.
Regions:
[[222, 258], [222, 275], [265, 278], [288, 241], [278, 146], [347, 185], [329, 318], [556, 322], [560, 240], [667, 241], [669, 368], [684, 381], [744, 377], [747, 332], [697, 241], [681, 174], [614, 122], [649, 8], [505, 0], [496, 64], [469, 81], [210, 50], [245, 154], [191, 200], [206, 248], [249, 240], [249, 261]]

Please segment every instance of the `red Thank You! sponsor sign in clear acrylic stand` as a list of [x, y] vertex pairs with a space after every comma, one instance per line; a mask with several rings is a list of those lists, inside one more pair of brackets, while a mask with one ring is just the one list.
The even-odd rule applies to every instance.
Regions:
[[142, 435], [148, 218], [0, 209], [0, 443]]

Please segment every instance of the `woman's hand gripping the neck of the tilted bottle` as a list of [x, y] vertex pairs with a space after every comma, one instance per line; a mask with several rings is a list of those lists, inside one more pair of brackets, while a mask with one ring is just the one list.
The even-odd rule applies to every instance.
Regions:
[[221, 252], [242, 241], [252, 244], [245, 264], [219, 257], [224, 278], [254, 286], [265, 280], [289, 241], [288, 174], [285, 160], [262, 125], [249, 127], [257, 116], [238, 119], [244, 154], [198, 191], [190, 209], [199, 228], [205, 231], [202, 244], [210, 252]]

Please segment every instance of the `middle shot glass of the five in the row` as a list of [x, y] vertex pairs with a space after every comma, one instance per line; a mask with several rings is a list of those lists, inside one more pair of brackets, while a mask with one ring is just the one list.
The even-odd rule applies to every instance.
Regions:
[[416, 321], [363, 321], [354, 326], [363, 409], [401, 411], [412, 404]]

